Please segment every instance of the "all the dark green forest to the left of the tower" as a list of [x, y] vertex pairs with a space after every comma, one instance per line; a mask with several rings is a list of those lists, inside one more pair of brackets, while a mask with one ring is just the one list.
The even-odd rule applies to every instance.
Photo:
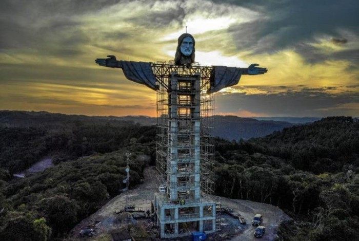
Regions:
[[[75, 124], [70, 128], [0, 127], [0, 240], [63, 237], [125, 188], [125, 152], [131, 151], [130, 187], [154, 160], [153, 126]], [[56, 165], [14, 179], [44, 155]], [[152, 163], [153, 164], [153, 163]]]

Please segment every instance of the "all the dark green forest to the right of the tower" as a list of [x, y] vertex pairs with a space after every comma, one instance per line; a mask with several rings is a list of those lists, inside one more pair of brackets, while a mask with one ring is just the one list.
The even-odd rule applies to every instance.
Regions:
[[294, 218], [278, 240], [359, 233], [359, 122], [330, 117], [247, 142], [216, 139], [216, 194], [266, 202]]

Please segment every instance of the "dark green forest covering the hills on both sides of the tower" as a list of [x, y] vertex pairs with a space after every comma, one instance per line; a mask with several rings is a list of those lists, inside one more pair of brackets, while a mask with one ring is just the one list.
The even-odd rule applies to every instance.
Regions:
[[[0, 126], [0, 240], [54, 240], [154, 164], [155, 127], [131, 122]], [[324, 118], [248, 141], [215, 139], [216, 195], [271, 203], [293, 221], [278, 240], [352, 240], [359, 233], [359, 122]], [[149, 161], [141, 158], [150, 157]], [[12, 174], [44, 156], [55, 166]]]

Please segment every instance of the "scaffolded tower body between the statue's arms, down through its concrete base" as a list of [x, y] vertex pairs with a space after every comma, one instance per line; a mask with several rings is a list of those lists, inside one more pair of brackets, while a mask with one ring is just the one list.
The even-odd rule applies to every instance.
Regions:
[[153, 206], [162, 238], [215, 232], [212, 67], [152, 63], [156, 77], [156, 169]]

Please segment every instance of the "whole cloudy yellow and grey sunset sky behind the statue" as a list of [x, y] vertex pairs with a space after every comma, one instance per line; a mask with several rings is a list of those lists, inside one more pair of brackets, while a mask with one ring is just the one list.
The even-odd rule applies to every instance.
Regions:
[[178, 36], [202, 65], [248, 67], [215, 113], [359, 116], [358, 1], [4, 1], [0, 109], [155, 116], [155, 91], [96, 58], [173, 60]]

